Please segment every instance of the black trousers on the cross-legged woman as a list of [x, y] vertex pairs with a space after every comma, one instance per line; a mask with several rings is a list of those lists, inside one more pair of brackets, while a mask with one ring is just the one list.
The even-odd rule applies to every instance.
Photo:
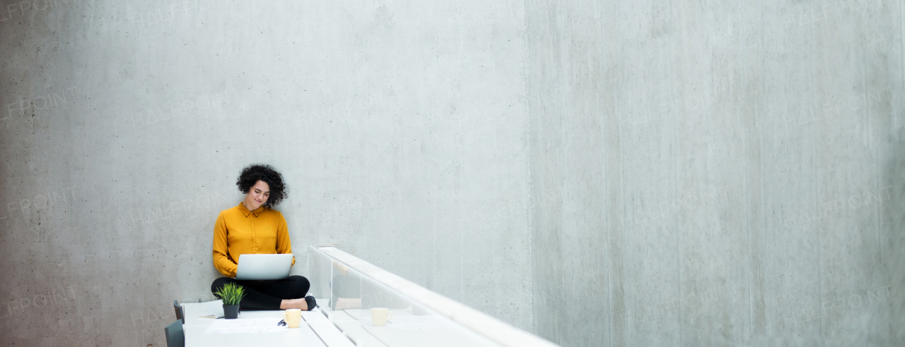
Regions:
[[239, 309], [247, 311], [279, 310], [283, 299], [303, 298], [311, 286], [308, 278], [300, 276], [262, 281], [237, 281], [230, 277], [220, 277], [214, 279], [211, 292], [216, 293], [227, 283], [235, 283], [245, 288], [245, 296], [239, 303]]

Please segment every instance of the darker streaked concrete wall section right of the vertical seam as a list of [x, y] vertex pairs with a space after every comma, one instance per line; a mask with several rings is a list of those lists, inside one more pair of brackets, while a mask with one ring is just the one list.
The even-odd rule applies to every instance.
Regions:
[[527, 1], [534, 330], [901, 345], [902, 4]]

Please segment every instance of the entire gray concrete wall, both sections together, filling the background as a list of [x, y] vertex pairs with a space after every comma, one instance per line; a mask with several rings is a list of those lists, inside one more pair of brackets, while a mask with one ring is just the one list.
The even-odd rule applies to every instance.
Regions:
[[0, 345], [165, 345], [245, 164], [564, 346], [901, 345], [902, 3], [0, 2]]

